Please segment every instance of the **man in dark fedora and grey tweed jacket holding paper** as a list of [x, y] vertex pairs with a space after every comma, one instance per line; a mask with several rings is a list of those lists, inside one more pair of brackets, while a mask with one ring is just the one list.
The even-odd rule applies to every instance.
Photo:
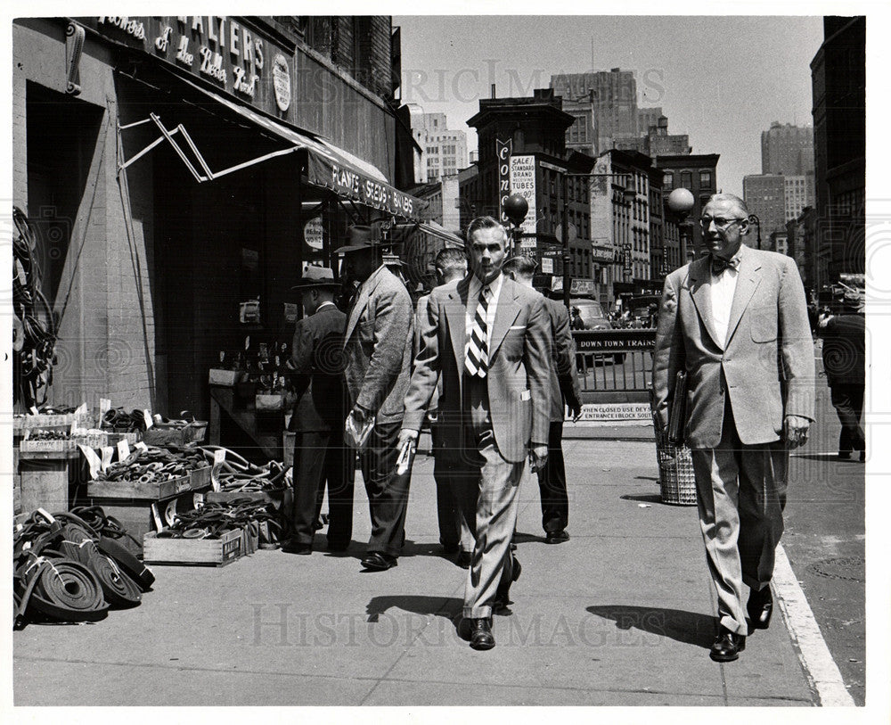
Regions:
[[343, 337], [352, 406], [347, 423], [359, 430], [374, 422], [359, 458], [372, 516], [362, 565], [382, 572], [396, 566], [405, 540], [410, 472], [394, 473], [412, 363], [413, 309], [405, 284], [384, 265], [372, 228], [352, 227], [349, 240], [337, 250], [347, 275], [360, 283]]

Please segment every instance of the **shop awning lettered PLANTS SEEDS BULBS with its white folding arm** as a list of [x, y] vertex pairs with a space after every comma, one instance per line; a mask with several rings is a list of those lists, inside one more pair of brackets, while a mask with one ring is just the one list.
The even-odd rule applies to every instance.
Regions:
[[[200, 93], [207, 95], [213, 101], [224, 106], [229, 111], [237, 113], [242, 118], [248, 119], [251, 123], [257, 125], [259, 128], [263, 128], [274, 134], [274, 136], [282, 138], [283, 141], [291, 144], [290, 147], [282, 149], [281, 151], [266, 153], [263, 156], [257, 157], [257, 159], [246, 161], [229, 169], [215, 172], [209, 169], [208, 164], [204, 161], [200, 151], [192, 141], [192, 137], [186, 129], [181, 127], [173, 129], [164, 128], [160, 124], [157, 116], [150, 114], [149, 119], [138, 121], [135, 124], [129, 124], [127, 127], [121, 128], [129, 128], [130, 126], [142, 123], [154, 122], [159, 127], [161, 137], [147, 148], [143, 149], [143, 151], [135, 154], [135, 156], [123, 163], [122, 168], [126, 168], [129, 164], [142, 156], [143, 153], [149, 152], [151, 148], [164, 140], [167, 140], [173, 145], [176, 153], [184, 161], [185, 165], [192, 172], [192, 176], [195, 177], [199, 183], [225, 176], [233, 171], [247, 168], [277, 156], [305, 149], [307, 151], [308, 160], [307, 177], [310, 184], [330, 189], [332, 192], [345, 199], [364, 204], [372, 207], [372, 209], [386, 211], [388, 214], [398, 217], [418, 220], [425, 202], [421, 202], [420, 199], [413, 197], [411, 194], [405, 194], [405, 192], [401, 192], [394, 186], [389, 185], [387, 177], [380, 172], [380, 169], [377, 169], [367, 161], [363, 161], [352, 153], [344, 151], [338, 146], [331, 144], [331, 142], [321, 136], [313, 136], [283, 126], [281, 123], [254, 111], [248, 106], [242, 105], [241, 103], [234, 103], [233, 101], [224, 98], [222, 95], [209, 91], [207, 88], [200, 87], [185, 78], [178, 76], [177, 78], [180, 78], [184, 83], [187, 83], [189, 86], [200, 91]], [[191, 149], [192, 155], [195, 157], [195, 160], [198, 161], [200, 168], [195, 167], [189, 158], [189, 154], [177, 143], [177, 135], [182, 136], [186, 146]]]

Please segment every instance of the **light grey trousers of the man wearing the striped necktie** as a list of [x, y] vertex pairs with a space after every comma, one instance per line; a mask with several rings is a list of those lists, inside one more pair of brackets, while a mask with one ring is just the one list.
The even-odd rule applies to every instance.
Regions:
[[519, 510], [523, 463], [504, 460], [495, 443], [488, 413], [486, 381], [465, 378], [464, 449], [456, 456], [454, 487], [465, 525], [474, 537], [464, 587], [463, 614], [492, 616], [492, 601], [502, 581], [512, 581], [511, 539]]

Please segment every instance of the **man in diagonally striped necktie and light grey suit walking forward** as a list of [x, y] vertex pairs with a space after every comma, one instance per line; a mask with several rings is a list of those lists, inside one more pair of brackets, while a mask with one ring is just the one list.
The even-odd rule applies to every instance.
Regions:
[[473, 274], [430, 292], [399, 437], [417, 438], [442, 375], [438, 425], [475, 537], [463, 614], [470, 647], [491, 649], [493, 607], [520, 573], [511, 537], [523, 462], [528, 455], [537, 472], [547, 459], [552, 362], [542, 296], [502, 274], [504, 227], [476, 218], [467, 240]]

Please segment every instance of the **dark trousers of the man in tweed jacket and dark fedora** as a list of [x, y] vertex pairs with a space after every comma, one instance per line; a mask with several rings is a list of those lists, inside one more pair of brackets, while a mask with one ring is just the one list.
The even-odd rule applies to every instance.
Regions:
[[405, 475], [396, 475], [401, 427], [401, 420], [375, 424], [368, 438], [368, 447], [359, 457], [372, 515], [369, 553], [380, 551], [399, 556], [405, 542], [405, 511], [412, 471], [410, 468]]

